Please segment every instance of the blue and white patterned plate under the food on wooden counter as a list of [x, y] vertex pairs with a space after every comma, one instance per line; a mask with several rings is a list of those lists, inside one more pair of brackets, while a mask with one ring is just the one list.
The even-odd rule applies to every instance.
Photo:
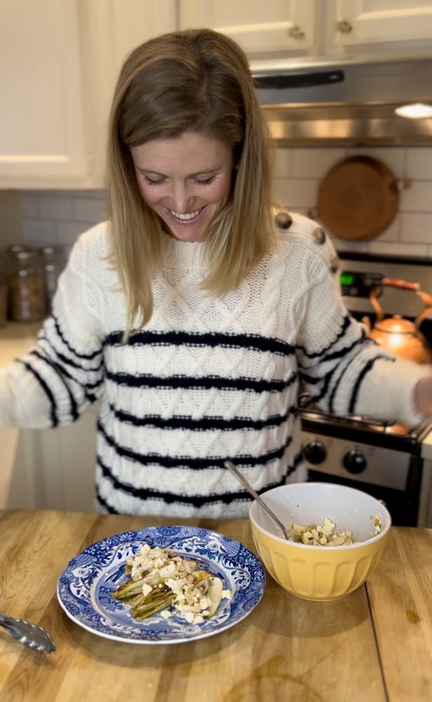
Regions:
[[[170, 548], [220, 576], [232, 600], [224, 598], [215, 615], [202, 624], [160, 613], [136, 621], [129, 607], [111, 593], [127, 579], [126, 559], [143, 543]], [[170, 644], [220, 633], [248, 616], [261, 600], [265, 575], [261, 563], [238, 541], [198, 527], [149, 527], [102, 539], [76, 555], [62, 572], [58, 601], [74, 622], [94, 634], [135, 644]]]

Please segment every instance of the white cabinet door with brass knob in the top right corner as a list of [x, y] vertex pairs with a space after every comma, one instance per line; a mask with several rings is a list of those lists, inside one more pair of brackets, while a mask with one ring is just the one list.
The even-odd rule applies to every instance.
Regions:
[[339, 46], [412, 41], [432, 37], [432, 2], [429, 0], [336, 0], [334, 41]]

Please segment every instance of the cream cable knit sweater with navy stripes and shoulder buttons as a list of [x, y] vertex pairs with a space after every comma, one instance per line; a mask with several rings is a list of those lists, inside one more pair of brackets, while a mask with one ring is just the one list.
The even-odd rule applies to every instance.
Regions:
[[36, 347], [0, 376], [4, 424], [64, 425], [100, 398], [100, 510], [245, 517], [250, 498], [226, 459], [257, 491], [306, 478], [300, 384], [332, 413], [420, 419], [412, 394], [423, 369], [365, 338], [316, 223], [293, 216], [281, 246], [218, 297], [198, 289], [205, 245], [167, 237], [154, 314], [128, 343], [108, 226], [79, 238]]

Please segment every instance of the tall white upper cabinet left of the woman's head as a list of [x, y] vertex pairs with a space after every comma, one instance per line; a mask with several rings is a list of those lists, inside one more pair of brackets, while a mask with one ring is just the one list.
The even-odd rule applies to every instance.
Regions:
[[1, 2], [0, 188], [103, 187], [121, 63], [176, 26], [176, 0]]

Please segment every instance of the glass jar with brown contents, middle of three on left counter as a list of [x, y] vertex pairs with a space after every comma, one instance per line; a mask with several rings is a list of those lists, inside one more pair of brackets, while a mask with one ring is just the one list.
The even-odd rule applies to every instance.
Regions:
[[17, 251], [9, 279], [9, 316], [13, 322], [39, 322], [46, 312], [43, 277], [35, 251]]

